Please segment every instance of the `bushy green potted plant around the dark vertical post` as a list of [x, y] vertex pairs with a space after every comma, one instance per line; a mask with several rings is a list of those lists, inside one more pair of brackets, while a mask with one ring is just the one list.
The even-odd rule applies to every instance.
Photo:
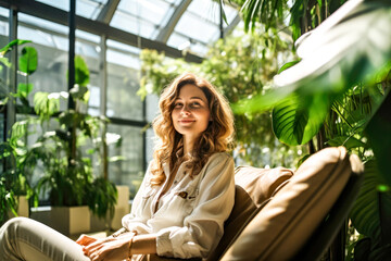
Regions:
[[[39, 115], [42, 134], [30, 150], [36, 162], [42, 165], [43, 174], [37, 190], [49, 194], [51, 220], [65, 215], [78, 223], [83, 221], [79, 229], [73, 228], [72, 224], [53, 225], [65, 234], [88, 231], [89, 210], [100, 219], [110, 220], [117, 198], [114, 184], [92, 174], [91, 158], [100, 159], [100, 148], [105, 146], [100, 130], [108, 120], [83, 112], [89, 99], [89, 72], [80, 57], [75, 58], [75, 72], [76, 85], [68, 92], [35, 95], [35, 111]], [[75, 108], [60, 112], [60, 100], [70, 98], [74, 100]], [[68, 207], [79, 209], [83, 216], [73, 217], [74, 210], [70, 212]]]

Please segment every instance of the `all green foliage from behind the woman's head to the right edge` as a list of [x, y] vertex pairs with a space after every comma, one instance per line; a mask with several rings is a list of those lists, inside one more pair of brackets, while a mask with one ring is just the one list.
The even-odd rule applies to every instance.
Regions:
[[269, 152], [272, 166], [287, 166], [287, 151], [300, 159], [292, 152], [304, 144], [311, 153], [344, 146], [358, 154], [365, 178], [340, 254], [384, 260], [391, 253], [390, 1], [232, 2], [249, 35], [220, 40], [200, 65], [144, 51], [140, 94], [159, 94], [182, 71], [211, 79], [234, 104], [237, 152], [252, 165], [263, 165]]

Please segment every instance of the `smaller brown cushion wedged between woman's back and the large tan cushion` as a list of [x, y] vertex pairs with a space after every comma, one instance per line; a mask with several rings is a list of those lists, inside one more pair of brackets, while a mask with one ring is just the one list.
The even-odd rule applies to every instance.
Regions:
[[218, 260], [234, 238], [245, 226], [247, 221], [292, 175], [293, 172], [285, 167], [237, 167], [235, 174], [235, 206], [228, 220], [225, 222], [223, 238], [207, 260]]

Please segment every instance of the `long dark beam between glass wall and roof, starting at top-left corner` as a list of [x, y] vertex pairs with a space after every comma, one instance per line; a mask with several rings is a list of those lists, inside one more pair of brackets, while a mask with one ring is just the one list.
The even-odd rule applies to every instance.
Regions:
[[[13, 0], [11, 2], [9, 0], [0, 0], [0, 7], [7, 9], [13, 7], [18, 12], [68, 26], [68, 13], [66, 11], [40, 2], [30, 0]], [[203, 60], [201, 57], [192, 53], [186, 53], [186, 55], [184, 57], [180, 50], [169, 47], [163, 42], [150, 40], [135, 34], [111, 27], [102, 22], [85, 18], [79, 15], [76, 15], [76, 28], [99, 36], [104, 35], [109, 39], [116, 40], [134, 47], [140, 47], [141, 49], [154, 49], [157, 51], [164, 51], [167, 57], [184, 58], [188, 62], [201, 63]]]

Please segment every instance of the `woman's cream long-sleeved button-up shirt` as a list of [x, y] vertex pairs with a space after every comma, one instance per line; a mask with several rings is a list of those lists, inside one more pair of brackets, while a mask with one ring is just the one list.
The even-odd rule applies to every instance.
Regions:
[[[124, 227], [138, 234], [155, 233], [159, 256], [206, 258], [223, 236], [224, 222], [234, 207], [232, 158], [226, 152], [214, 153], [193, 178], [188, 175], [189, 169], [184, 162], [160, 202], [159, 196], [168, 178], [162, 186], [151, 187], [150, 166], [130, 214], [122, 220]], [[167, 164], [163, 165], [167, 176], [171, 175], [168, 169]]]

